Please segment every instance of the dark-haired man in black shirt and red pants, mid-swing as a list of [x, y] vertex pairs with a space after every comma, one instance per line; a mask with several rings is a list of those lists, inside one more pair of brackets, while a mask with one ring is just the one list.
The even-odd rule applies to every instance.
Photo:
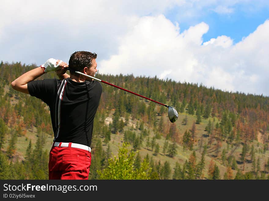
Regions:
[[[77, 51], [70, 56], [69, 66], [51, 58], [11, 83], [13, 89], [35, 96], [50, 107], [54, 140], [49, 179], [88, 179], [94, 116], [102, 86], [75, 71], [94, 76], [96, 58], [95, 53]], [[70, 76], [66, 73], [67, 67]], [[55, 71], [59, 79], [35, 80], [50, 71]]]

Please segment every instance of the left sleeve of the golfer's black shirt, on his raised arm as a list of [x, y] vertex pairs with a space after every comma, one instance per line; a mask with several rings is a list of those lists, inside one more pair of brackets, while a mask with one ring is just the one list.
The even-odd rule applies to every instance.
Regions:
[[57, 79], [33, 80], [27, 84], [29, 94], [44, 101], [50, 106], [55, 99], [57, 91]]

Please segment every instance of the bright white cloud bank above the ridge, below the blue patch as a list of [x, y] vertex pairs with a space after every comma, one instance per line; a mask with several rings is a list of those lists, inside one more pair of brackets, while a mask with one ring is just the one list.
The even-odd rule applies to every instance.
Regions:
[[100, 73], [157, 75], [269, 95], [267, 86], [258, 87], [268, 73], [269, 20], [237, 44], [225, 35], [202, 43], [208, 28], [202, 22], [180, 33], [163, 15], [139, 18], [121, 39], [118, 53], [99, 62]]

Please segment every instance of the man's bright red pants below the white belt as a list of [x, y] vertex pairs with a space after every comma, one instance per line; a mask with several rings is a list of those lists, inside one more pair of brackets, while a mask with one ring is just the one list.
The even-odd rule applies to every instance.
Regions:
[[90, 151], [70, 146], [52, 146], [49, 160], [49, 179], [88, 179], [90, 162]]

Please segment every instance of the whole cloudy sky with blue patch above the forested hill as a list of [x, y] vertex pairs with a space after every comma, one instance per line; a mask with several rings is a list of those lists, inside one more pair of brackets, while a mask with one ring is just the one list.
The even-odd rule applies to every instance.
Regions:
[[0, 18], [4, 62], [68, 62], [87, 50], [101, 74], [269, 96], [269, 1], [4, 0]]

